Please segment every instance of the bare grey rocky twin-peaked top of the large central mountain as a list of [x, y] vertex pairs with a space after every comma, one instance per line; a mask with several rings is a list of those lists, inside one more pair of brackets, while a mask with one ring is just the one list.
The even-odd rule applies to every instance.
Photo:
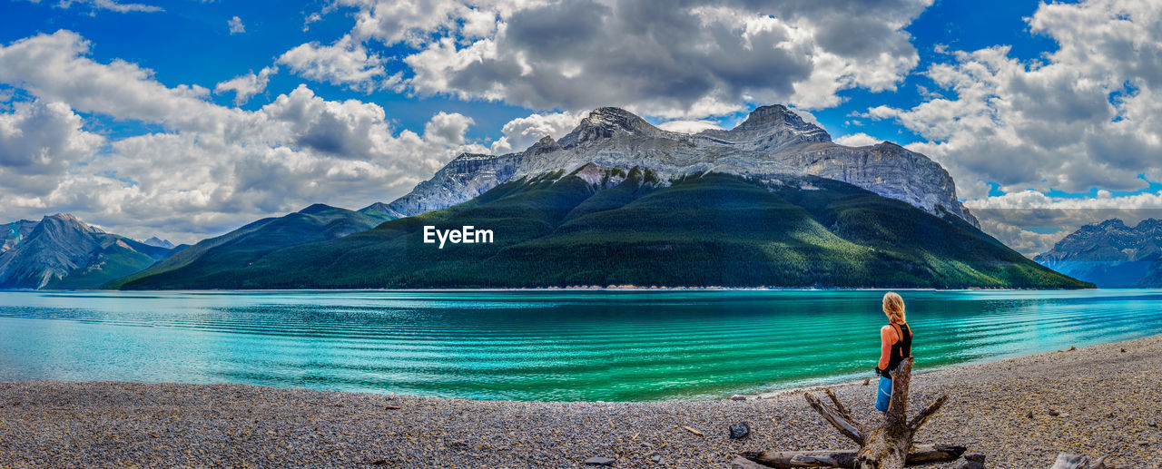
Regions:
[[522, 153], [462, 154], [410, 194], [364, 210], [418, 215], [467, 201], [511, 178], [571, 173], [588, 164], [648, 168], [664, 181], [706, 172], [770, 180], [816, 175], [980, 226], [956, 199], [952, 176], [935, 161], [890, 143], [834, 144], [825, 130], [783, 106], [760, 107], [734, 129], [696, 135], [658, 129], [623, 109], [598, 108], [560, 142], [545, 137]]

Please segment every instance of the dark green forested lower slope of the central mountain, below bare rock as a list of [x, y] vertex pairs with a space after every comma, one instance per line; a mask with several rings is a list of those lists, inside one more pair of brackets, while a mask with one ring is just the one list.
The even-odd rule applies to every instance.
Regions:
[[[492, 244], [423, 243], [425, 225], [493, 230]], [[1088, 284], [944, 219], [810, 175], [584, 165], [501, 183], [444, 210], [268, 253], [213, 275], [125, 288], [565, 286], [1021, 287]]]

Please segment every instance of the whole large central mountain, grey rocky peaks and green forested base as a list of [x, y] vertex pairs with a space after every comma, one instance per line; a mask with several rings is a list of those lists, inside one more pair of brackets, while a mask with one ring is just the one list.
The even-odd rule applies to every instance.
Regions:
[[[981, 232], [927, 157], [830, 139], [782, 106], [696, 135], [601, 108], [560, 140], [461, 154], [390, 203], [254, 222], [107, 286], [1091, 286]], [[495, 243], [423, 243], [468, 225]]]

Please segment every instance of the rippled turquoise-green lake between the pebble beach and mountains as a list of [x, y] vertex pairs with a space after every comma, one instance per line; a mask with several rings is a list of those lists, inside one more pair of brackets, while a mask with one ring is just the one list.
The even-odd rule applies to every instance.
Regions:
[[[1162, 333], [1162, 290], [901, 294], [920, 370]], [[0, 381], [722, 398], [874, 376], [882, 295], [3, 291]]]

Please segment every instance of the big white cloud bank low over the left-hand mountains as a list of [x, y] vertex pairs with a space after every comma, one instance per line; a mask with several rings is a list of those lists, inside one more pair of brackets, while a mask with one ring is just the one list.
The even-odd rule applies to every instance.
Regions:
[[[254, 111], [224, 108], [205, 88], [167, 87], [87, 50], [69, 31], [0, 46], [0, 82], [31, 96], [0, 114], [6, 216], [50, 208], [131, 237], [193, 241], [314, 202], [390, 200], [457, 153], [487, 151], [465, 138], [472, 120], [459, 114], [437, 114], [418, 135], [393, 129], [378, 104], [307, 86]], [[76, 110], [165, 130], [107, 142]]]

